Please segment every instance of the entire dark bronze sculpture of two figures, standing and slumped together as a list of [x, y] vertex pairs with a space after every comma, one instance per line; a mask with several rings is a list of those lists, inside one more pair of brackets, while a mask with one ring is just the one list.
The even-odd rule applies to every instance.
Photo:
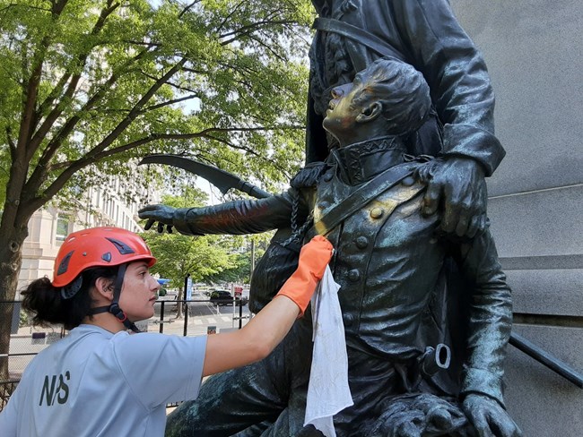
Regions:
[[[150, 206], [141, 217], [149, 219], [147, 227], [159, 221], [159, 230], [174, 226], [185, 234], [279, 228], [268, 252], [280, 261], [264, 257], [253, 278], [255, 311], [293, 268], [293, 251], [282, 251], [294, 244], [297, 249], [312, 219], [315, 226], [308, 235], [329, 231], [340, 242], [334, 270], [343, 286], [355, 398], [354, 407], [335, 416], [340, 435], [520, 435], [501, 400], [510, 297], [487, 231], [483, 176], [492, 174], [504, 150], [493, 134], [494, 99], [483, 58], [447, 0], [313, 3], [319, 18], [310, 50], [308, 165], [292, 180], [290, 191], [198, 210]], [[405, 105], [413, 113], [419, 109], [421, 119], [401, 118], [381, 127], [379, 116], [367, 110], [352, 114], [358, 138], [352, 137], [353, 130], [349, 136], [339, 131], [343, 124], [335, 125], [335, 117], [326, 117], [322, 129], [330, 90], [340, 97], [355, 77], [358, 88], [359, 80], [371, 79], [371, 71], [356, 73], [387, 56], [413, 65], [429, 84], [431, 105], [427, 94], [413, 91], [418, 99]], [[406, 70], [395, 59], [387, 62], [385, 69]], [[413, 82], [419, 78], [418, 73], [405, 76]], [[404, 107], [392, 109], [383, 107], [382, 113], [396, 114]], [[358, 139], [361, 144], [354, 143]], [[418, 155], [439, 159], [422, 163], [411, 158]], [[395, 178], [401, 182], [391, 183]], [[413, 197], [404, 201], [403, 192]], [[351, 214], [335, 208], [336, 201], [359, 196], [378, 207], [352, 202]], [[393, 206], [382, 206], [387, 204]], [[414, 262], [419, 253], [439, 255]], [[421, 272], [426, 264], [431, 267]], [[452, 274], [456, 269], [464, 274]], [[413, 292], [405, 287], [407, 280], [421, 282]], [[312, 433], [301, 429], [310, 333], [311, 321], [302, 319], [264, 362], [234, 371], [236, 378], [225, 373], [209, 381], [203, 390], [213, 398], [179, 408], [170, 417], [168, 434]], [[453, 357], [448, 370], [436, 373], [430, 347], [439, 343], [449, 344]]]

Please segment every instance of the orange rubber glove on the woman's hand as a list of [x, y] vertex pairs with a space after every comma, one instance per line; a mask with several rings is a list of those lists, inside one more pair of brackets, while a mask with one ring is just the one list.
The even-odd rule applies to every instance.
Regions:
[[300, 262], [290, 278], [285, 281], [277, 296], [287, 296], [300, 307], [300, 318], [316, 291], [318, 281], [324, 276], [334, 248], [324, 236], [315, 236], [300, 251]]

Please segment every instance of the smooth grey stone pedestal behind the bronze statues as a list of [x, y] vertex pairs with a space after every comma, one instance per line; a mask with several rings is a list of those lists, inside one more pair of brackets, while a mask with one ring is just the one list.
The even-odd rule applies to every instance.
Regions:
[[[583, 373], [583, 3], [451, 4], [488, 64], [508, 152], [488, 187], [514, 330]], [[513, 347], [506, 374], [526, 436], [583, 435], [583, 390]]]

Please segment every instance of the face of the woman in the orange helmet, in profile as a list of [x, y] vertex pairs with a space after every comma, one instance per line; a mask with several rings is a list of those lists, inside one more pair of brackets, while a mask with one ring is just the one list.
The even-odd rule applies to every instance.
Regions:
[[149, 319], [154, 314], [154, 303], [160, 289], [158, 281], [150, 274], [144, 261], [127, 266], [124, 285], [119, 296], [119, 307], [130, 321]]

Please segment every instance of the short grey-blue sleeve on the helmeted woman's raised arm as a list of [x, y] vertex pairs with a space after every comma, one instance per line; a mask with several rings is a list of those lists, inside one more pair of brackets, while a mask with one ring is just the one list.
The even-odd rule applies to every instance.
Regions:
[[147, 408], [192, 400], [203, 376], [206, 336], [117, 335], [114, 353], [130, 390]]

